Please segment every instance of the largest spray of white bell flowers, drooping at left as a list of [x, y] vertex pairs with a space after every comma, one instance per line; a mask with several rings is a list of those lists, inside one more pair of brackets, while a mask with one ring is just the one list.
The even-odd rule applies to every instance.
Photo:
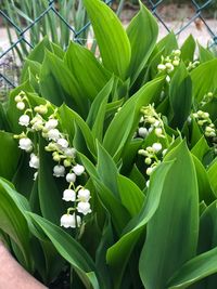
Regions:
[[[29, 167], [38, 170], [40, 163], [38, 136], [40, 134], [46, 139], [48, 144], [44, 149], [52, 154], [52, 159], [56, 162], [53, 167], [53, 176], [65, 178], [68, 183], [68, 187], [63, 192], [63, 200], [73, 202], [73, 207], [68, 208], [67, 213], [61, 218], [61, 226], [79, 227], [80, 215], [91, 212], [90, 192], [77, 184], [77, 179], [85, 173], [85, 168], [76, 162], [76, 149], [69, 145], [67, 134], [60, 130], [56, 108], [53, 108], [48, 101], [43, 105], [31, 107], [24, 92], [21, 92], [14, 100], [17, 109], [24, 110], [18, 119], [24, 131], [14, 135], [18, 139], [18, 147], [30, 153]], [[34, 180], [36, 178], [37, 172]]]

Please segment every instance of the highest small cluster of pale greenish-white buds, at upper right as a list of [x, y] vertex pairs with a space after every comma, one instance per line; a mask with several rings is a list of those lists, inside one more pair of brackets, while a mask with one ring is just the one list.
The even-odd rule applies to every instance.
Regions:
[[170, 81], [169, 75], [174, 71], [175, 67], [180, 64], [181, 51], [179, 49], [173, 50], [171, 54], [164, 57], [162, 55], [162, 62], [157, 65], [158, 73], [165, 71], [167, 74], [166, 80]]

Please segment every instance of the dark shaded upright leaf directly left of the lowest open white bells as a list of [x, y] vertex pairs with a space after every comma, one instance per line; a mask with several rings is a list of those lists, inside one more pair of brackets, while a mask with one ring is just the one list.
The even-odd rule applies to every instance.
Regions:
[[[62, 194], [53, 176], [55, 163], [44, 150], [44, 142], [39, 144], [40, 167], [38, 173], [38, 195], [42, 215], [54, 224], [60, 224], [60, 218], [64, 212]], [[52, 200], [52, 201], [51, 201]]]

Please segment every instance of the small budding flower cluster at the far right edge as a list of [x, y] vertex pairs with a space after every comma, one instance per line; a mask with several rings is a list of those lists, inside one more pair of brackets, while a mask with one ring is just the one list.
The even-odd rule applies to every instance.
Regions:
[[216, 128], [215, 124], [212, 122], [208, 113], [197, 110], [193, 114], [193, 117], [195, 118], [197, 124], [204, 129], [205, 136], [216, 137]]

